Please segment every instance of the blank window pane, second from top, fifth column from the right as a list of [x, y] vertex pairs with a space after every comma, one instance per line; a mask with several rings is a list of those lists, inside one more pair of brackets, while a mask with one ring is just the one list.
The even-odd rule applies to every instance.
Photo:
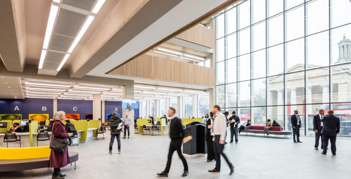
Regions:
[[253, 35], [251, 36], [253, 42], [252, 51], [257, 51], [266, 48], [266, 23], [261, 22], [254, 25]]

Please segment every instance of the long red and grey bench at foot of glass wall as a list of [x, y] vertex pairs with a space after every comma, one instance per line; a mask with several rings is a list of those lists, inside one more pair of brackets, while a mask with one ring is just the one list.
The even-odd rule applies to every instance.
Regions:
[[256, 136], [256, 134], [273, 134], [276, 138], [278, 135], [284, 135], [285, 137], [292, 135], [292, 131], [283, 130], [283, 127], [263, 125], [244, 126], [244, 130], [241, 130], [241, 132], [253, 133], [254, 136]]

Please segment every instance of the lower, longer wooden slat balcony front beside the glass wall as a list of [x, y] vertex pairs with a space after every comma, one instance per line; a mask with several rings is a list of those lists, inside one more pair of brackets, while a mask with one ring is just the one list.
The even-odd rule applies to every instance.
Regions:
[[143, 54], [109, 74], [215, 86], [215, 69]]

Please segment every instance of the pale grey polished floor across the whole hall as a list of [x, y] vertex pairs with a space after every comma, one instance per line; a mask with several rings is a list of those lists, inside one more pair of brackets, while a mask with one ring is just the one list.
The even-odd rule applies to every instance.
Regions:
[[[106, 140], [93, 140], [69, 147], [79, 152], [77, 169], [73, 166], [62, 168], [66, 179], [154, 179], [163, 171], [170, 139], [168, 136], [142, 136], [123, 139], [122, 152], [117, 153], [117, 142], [113, 155], [108, 154], [109, 134]], [[235, 173], [229, 176], [229, 167], [222, 160], [220, 173], [208, 173], [215, 167], [215, 161], [206, 158], [192, 158], [188, 161], [191, 179], [351, 179], [351, 140], [337, 139], [337, 156], [330, 150], [327, 156], [321, 150], [314, 150], [313, 137], [301, 137], [303, 143], [292, 139], [258, 135], [239, 136], [239, 143], [228, 143], [225, 153], [235, 166]], [[183, 166], [178, 156], [173, 156], [169, 178], [181, 178]], [[36, 169], [18, 172], [2, 172], [0, 179], [51, 178], [52, 169]]]

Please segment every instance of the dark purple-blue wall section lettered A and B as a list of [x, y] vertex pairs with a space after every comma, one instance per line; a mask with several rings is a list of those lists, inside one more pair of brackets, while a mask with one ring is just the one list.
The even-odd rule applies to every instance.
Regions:
[[[28, 119], [29, 114], [49, 114], [49, 118], [52, 119], [53, 104], [53, 99], [0, 99], [0, 114], [22, 114], [23, 119]], [[16, 106], [19, 110], [15, 110]]]

